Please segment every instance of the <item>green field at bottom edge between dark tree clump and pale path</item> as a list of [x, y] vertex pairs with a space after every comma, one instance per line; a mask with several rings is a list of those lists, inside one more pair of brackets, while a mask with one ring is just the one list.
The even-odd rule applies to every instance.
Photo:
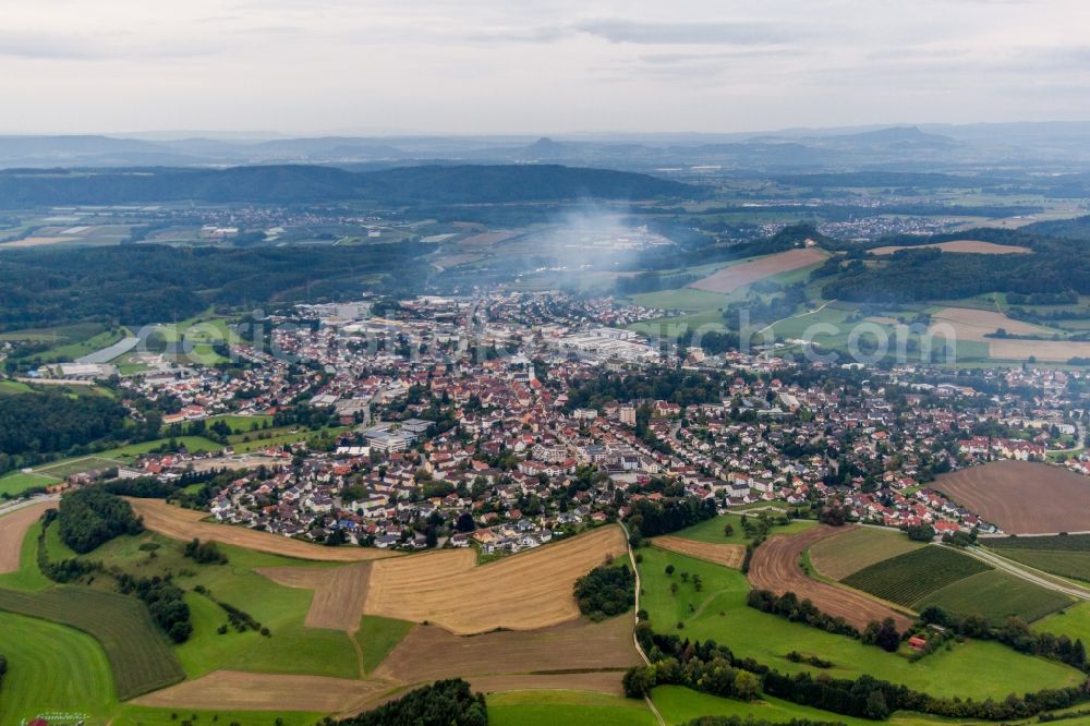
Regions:
[[492, 726], [655, 726], [654, 714], [639, 699], [583, 691], [492, 693]]

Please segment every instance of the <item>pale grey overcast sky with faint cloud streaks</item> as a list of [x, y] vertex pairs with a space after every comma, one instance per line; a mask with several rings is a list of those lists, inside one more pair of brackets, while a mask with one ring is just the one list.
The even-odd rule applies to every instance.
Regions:
[[1090, 120], [1085, 0], [0, 0], [0, 132]]

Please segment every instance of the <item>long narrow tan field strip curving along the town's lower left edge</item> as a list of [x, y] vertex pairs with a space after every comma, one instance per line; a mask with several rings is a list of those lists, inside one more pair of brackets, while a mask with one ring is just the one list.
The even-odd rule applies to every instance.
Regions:
[[398, 554], [365, 547], [324, 547], [243, 527], [204, 522], [202, 520], [208, 516], [207, 512], [182, 509], [158, 499], [128, 498], [128, 500], [136, 513], [144, 518], [145, 527], [182, 542], [197, 537], [271, 555], [330, 562], [354, 562], [393, 557]]

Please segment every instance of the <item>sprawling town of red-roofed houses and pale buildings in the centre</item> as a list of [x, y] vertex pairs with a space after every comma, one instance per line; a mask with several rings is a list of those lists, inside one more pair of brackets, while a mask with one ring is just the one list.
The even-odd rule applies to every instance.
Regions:
[[[182, 443], [116, 475], [202, 473], [210, 484], [192, 506], [283, 536], [492, 556], [664, 497], [998, 534], [935, 476], [993, 459], [1090, 474], [1090, 382], [1076, 371], [954, 376], [792, 362], [768, 347], [711, 355], [617, 327], [657, 315], [561, 293], [300, 305], [235, 326], [230, 362], [160, 356], [119, 385], [182, 441], [230, 434], [226, 416], [316, 422], [325, 436], [262, 446], [255, 427], [246, 452]], [[64, 485], [104, 475], [114, 472]]]

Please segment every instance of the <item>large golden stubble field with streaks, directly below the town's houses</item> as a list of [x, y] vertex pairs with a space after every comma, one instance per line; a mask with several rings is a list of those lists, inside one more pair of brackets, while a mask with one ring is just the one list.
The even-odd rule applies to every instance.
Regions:
[[482, 567], [469, 549], [378, 560], [364, 610], [458, 634], [545, 628], [579, 617], [576, 580], [626, 553], [621, 529], [610, 525]]

